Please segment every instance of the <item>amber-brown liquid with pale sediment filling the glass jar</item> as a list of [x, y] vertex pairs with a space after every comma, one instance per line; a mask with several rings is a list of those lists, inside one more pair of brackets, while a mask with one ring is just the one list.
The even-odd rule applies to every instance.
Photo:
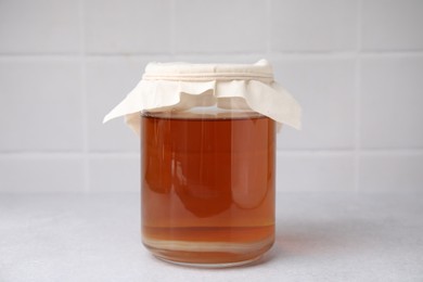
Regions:
[[271, 247], [273, 120], [144, 115], [141, 130], [142, 234], [154, 255], [218, 266]]

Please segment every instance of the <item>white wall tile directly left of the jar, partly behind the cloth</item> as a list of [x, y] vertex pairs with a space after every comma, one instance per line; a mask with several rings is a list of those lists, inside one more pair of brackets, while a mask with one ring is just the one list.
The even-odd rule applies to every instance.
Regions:
[[[146, 61], [134, 57], [87, 60], [88, 137], [90, 151], [139, 152], [139, 140], [124, 119], [102, 124], [111, 111], [141, 79]], [[99, 84], [101, 81], [101, 84]]]

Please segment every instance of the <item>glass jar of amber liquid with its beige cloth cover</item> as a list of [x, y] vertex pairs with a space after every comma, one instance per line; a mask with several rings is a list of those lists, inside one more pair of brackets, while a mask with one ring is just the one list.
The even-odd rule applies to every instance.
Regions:
[[141, 139], [142, 242], [153, 255], [228, 267], [272, 246], [277, 124], [299, 128], [300, 107], [266, 60], [150, 63], [104, 121], [123, 115]]

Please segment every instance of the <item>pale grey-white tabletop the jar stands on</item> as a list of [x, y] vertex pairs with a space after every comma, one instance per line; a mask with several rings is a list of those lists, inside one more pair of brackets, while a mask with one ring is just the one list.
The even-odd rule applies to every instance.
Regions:
[[423, 197], [278, 194], [272, 251], [193, 269], [140, 242], [139, 194], [0, 194], [0, 281], [423, 281]]

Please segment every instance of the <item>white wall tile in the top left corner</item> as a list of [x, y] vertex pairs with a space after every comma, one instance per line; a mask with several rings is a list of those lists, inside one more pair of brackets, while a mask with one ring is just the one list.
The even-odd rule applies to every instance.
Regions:
[[0, 53], [77, 53], [80, 10], [74, 0], [1, 0]]

